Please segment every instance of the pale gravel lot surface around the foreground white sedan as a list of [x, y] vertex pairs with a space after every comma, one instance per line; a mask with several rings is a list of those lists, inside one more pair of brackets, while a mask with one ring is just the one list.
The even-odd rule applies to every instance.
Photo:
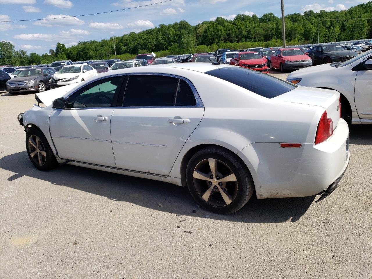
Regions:
[[320, 203], [253, 196], [223, 216], [167, 183], [38, 171], [16, 119], [34, 103], [0, 93], [0, 278], [372, 278], [372, 125], [352, 127], [349, 168]]

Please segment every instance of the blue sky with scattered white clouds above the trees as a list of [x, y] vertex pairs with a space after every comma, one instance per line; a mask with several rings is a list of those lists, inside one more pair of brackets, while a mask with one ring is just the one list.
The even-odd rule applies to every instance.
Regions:
[[[45, 19], [105, 12], [157, 3], [162, 0], [0, 0], [0, 21]], [[150, 7], [94, 16], [67, 19], [0, 23], [0, 41], [9, 41], [16, 50], [39, 54], [55, 48], [57, 42], [67, 47], [79, 41], [108, 39], [131, 31], [139, 32], [159, 24], [187, 20], [196, 25], [217, 16], [233, 19], [235, 15], [273, 12], [280, 17], [280, 0], [173, 0]], [[367, 0], [284, 0], [285, 14], [306, 10], [343, 10]]]

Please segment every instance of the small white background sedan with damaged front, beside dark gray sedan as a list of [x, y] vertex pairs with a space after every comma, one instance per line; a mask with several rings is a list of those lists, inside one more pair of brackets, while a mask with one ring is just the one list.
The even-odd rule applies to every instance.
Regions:
[[97, 76], [97, 70], [87, 64], [66, 65], [53, 75], [53, 86], [64, 86]]

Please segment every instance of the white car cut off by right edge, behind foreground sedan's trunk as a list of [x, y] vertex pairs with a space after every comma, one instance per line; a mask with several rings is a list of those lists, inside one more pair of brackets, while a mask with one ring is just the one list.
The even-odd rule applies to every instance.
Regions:
[[340, 93], [341, 115], [352, 124], [372, 124], [372, 50], [347, 60], [294, 71], [287, 81]]

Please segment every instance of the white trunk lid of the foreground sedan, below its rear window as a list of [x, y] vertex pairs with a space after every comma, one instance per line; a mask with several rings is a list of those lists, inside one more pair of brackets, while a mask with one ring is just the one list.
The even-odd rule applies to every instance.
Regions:
[[327, 110], [327, 117], [332, 119], [334, 128], [337, 127], [340, 120], [339, 99], [340, 93], [336, 90], [304, 86], [298, 86], [294, 90], [275, 97], [275, 100], [283, 102], [320, 106], [324, 108]]

